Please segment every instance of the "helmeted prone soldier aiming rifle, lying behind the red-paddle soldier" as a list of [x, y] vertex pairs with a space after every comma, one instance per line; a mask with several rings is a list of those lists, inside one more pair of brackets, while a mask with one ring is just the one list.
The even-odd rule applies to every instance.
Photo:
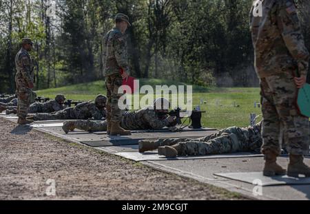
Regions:
[[[169, 103], [168, 100], [165, 100]], [[156, 102], [155, 102], [156, 103]], [[154, 107], [156, 104], [154, 103]], [[138, 111], [125, 111], [121, 120], [121, 127], [127, 130], [143, 130], [143, 129], [163, 129], [163, 127], [174, 127], [176, 118], [167, 115], [167, 111], [160, 111], [154, 107], [145, 107]], [[107, 121], [102, 122], [90, 120], [67, 121], [63, 125], [63, 131], [73, 131], [81, 129], [85, 131], [107, 131]], [[110, 133], [107, 133], [110, 134]]]

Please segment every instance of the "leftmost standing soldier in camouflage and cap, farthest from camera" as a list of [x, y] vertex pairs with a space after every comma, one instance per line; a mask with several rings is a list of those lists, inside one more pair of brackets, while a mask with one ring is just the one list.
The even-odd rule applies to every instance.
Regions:
[[33, 122], [27, 120], [27, 114], [30, 103], [33, 103], [36, 94], [32, 92], [34, 83], [34, 72], [30, 52], [32, 50], [32, 41], [29, 38], [24, 38], [21, 41], [21, 50], [16, 55], [15, 66], [17, 73], [15, 75], [16, 94], [19, 99], [17, 106], [17, 116], [19, 116], [19, 125], [25, 125]]

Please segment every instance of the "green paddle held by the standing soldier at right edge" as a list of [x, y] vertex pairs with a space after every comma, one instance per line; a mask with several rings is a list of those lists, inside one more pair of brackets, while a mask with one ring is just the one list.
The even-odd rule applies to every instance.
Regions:
[[[296, 73], [297, 76], [300, 76], [298, 71], [296, 71]], [[310, 84], [306, 83], [298, 90], [297, 105], [300, 114], [310, 118]]]

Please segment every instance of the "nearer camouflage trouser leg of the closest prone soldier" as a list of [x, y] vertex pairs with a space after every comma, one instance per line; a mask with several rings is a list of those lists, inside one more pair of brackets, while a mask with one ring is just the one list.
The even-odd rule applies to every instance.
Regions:
[[[205, 156], [209, 154], [233, 153], [242, 151], [242, 142], [234, 133], [223, 133], [222, 136], [208, 140], [207, 142], [191, 140], [180, 142], [178, 156]], [[176, 146], [176, 145], [175, 145]]]

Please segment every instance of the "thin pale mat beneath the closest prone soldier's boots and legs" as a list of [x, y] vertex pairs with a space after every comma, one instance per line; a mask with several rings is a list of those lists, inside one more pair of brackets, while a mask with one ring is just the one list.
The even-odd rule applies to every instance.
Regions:
[[158, 156], [157, 151], [154, 152], [118, 152], [115, 153], [116, 156], [121, 156], [134, 161], [145, 161], [145, 160], [195, 160], [195, 159], [211, 159], [211, 158], [247, 158], [247, 157], [262, 157], [261, 154], [254, 153], [227, 153], [220, 155], [210, 155], [210, 156], [183, 156], [177, 158], [166, 158], [165, 156]]

